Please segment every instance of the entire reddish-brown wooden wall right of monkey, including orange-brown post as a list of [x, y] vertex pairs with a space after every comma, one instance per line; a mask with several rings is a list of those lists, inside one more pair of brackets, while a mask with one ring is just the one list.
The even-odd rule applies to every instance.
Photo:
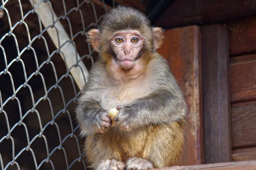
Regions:
[[159, 51], [187, 94], [196, 127], [188, 129], [182, 164], [256, 160], [256, 16], [169, 29], [165, 36]]

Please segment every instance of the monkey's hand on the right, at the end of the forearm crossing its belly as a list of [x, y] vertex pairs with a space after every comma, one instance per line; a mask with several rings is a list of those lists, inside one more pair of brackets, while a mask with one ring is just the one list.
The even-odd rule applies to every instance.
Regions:
[[134, 121], [133, 105], [120, 105], [116, 109], [119, 111], [114, 118], [115, 125], [123, 131], [130, 131], [136, 124]]

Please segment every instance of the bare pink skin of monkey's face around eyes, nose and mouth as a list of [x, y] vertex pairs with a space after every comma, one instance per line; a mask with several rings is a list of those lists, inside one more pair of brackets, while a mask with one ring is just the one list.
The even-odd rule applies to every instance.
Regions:
[[143, 46], [143, 38], [138, 31], [116, 32], [111, 38], [111, 44], [116, 54], [113, 64], [123, 69], [130, 69], [136, 65], [138, 53]]

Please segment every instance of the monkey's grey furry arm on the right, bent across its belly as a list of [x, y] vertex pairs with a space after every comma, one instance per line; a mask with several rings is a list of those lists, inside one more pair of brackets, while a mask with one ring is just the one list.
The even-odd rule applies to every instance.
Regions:
[[156, 92], [120, 108], [119, 115], [115, 120], [117, 126], [124, 128], [168, 124], [183, 119], [187, 113], [184, 98], [165, 89], [158, 89]]

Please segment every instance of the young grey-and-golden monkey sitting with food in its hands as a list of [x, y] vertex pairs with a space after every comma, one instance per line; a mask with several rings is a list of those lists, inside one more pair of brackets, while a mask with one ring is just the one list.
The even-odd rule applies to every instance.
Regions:
[[[111, 9], [88, 41], [99, 54], [75, 110], [94, 170], [174, 165], [184, 144], [187, 104], [167, 61], [157, 52], [163, 29], [131, 7]], [[119, 110], [114, 118], [108, 111]]]

